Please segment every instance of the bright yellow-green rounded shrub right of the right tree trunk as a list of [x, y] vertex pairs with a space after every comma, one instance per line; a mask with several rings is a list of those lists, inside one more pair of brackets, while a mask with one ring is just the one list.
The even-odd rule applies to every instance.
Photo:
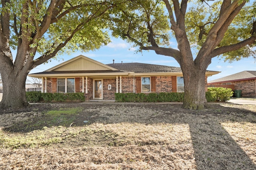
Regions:
[[216, 92], [216, 101], [222, 102], [230, 100], [234, 93], [231, 88], [223, 87], [209, 87], [208, 92]]

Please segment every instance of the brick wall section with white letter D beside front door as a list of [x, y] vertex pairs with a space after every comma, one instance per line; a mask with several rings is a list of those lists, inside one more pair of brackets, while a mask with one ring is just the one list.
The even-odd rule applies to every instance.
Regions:
[[[111, 85], [111, 89], [108, 90], [108, 84]], [[116, 92], [116, 78], [103, 79], [103, 99], [115, 100]]]

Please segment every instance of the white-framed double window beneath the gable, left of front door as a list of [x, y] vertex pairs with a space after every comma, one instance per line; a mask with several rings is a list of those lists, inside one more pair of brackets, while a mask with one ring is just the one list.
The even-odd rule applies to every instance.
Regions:
[[75, 79], [74, 78], [58, 78], [57, 92], [58, 93], [74, 93]]

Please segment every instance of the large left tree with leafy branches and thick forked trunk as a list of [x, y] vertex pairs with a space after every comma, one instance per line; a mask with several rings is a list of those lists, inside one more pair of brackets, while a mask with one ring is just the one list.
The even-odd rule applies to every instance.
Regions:
[[[117, 2], [117, 1], [115, 1]], [[0, 108], [28, 106], [26, 76], [36, 66], [67, 51], [100, 48], [114, 9], [109, 0], [2, 0], [0, 4]], [[12, 56], [11, 48], [17, 54]], [[38, 57], [36, 53], [40, 54]]]

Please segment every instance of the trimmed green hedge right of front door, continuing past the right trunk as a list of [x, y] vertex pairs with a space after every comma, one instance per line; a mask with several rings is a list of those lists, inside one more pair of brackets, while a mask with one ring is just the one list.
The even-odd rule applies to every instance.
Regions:
[[[115, 93], [116, 102], [183, 102], [184, 93]], [[206, 92], [207, 102], [216, 101], [216, 92]]]

